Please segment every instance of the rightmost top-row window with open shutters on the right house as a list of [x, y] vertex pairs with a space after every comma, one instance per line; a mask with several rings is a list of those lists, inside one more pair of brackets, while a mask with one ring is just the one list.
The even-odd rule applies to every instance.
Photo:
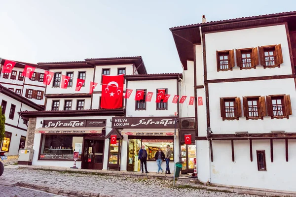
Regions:
[[259, 46], [258, 48], [260, 63], [264, 68], [280, 67], [284, 63], [281, 44]]

